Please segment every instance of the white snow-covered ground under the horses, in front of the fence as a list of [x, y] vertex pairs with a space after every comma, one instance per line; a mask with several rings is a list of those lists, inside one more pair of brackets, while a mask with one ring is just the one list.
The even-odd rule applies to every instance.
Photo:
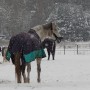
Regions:
[[0, 56], [0, 90], [90, 90], [90, 55], [59, 55], [41, 62], [41, 83], [37, 83], [36, 62], [32, 62], [29, 84], [17, 84], [11, 62]]

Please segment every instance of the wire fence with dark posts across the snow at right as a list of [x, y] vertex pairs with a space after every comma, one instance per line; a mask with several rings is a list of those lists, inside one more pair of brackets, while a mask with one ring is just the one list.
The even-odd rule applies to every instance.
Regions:
[[90, 54], [90, 44], [64, 45], [56, 49], [58, 54], [88, 55]]

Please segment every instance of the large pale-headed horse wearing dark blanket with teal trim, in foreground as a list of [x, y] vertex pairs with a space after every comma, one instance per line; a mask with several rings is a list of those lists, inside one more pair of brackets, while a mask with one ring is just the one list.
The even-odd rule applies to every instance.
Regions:
[[[37, 61], [37, 81], [41, 82], [41, 60], [42, 58], [46, 57], [41, 42], [46, 37], [51, 37], [59, 41], [59, 33], [56, 29], [55, 23], [51, 22], [37, 25], [31, 28], [29, 32], [19, 33], [11, 37], [6, 53], [6, 58], [7, 60], [10, 60], [11, 58], [15, 65], [17, 83], [22, 82], [21, 75], [23, 76], [24, 83], [30, 82], [29, 75], [31, 71], [31, 62], [35, 59]], [[25, 74], [26, 66], [28, 73], [27, 77]]]

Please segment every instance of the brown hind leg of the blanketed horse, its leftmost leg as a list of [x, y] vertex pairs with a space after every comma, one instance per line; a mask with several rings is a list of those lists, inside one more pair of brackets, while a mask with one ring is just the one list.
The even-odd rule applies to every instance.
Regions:
[[17, 83], [21, 83], [21, 67], [20, 67], [20, 53], [15, 54], [15, 73], [17, 77]]

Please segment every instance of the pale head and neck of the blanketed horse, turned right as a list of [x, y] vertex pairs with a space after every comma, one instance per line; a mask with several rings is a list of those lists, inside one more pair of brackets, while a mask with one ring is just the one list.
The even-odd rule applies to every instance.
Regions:
[[39, 35], [41, 41], [45, 38], [51, 38], [59, 43], [59, 32], [57, 30], [57, 25], [54, 22], [50, 22], [43, 25], [37, 25], [32, 28]]

